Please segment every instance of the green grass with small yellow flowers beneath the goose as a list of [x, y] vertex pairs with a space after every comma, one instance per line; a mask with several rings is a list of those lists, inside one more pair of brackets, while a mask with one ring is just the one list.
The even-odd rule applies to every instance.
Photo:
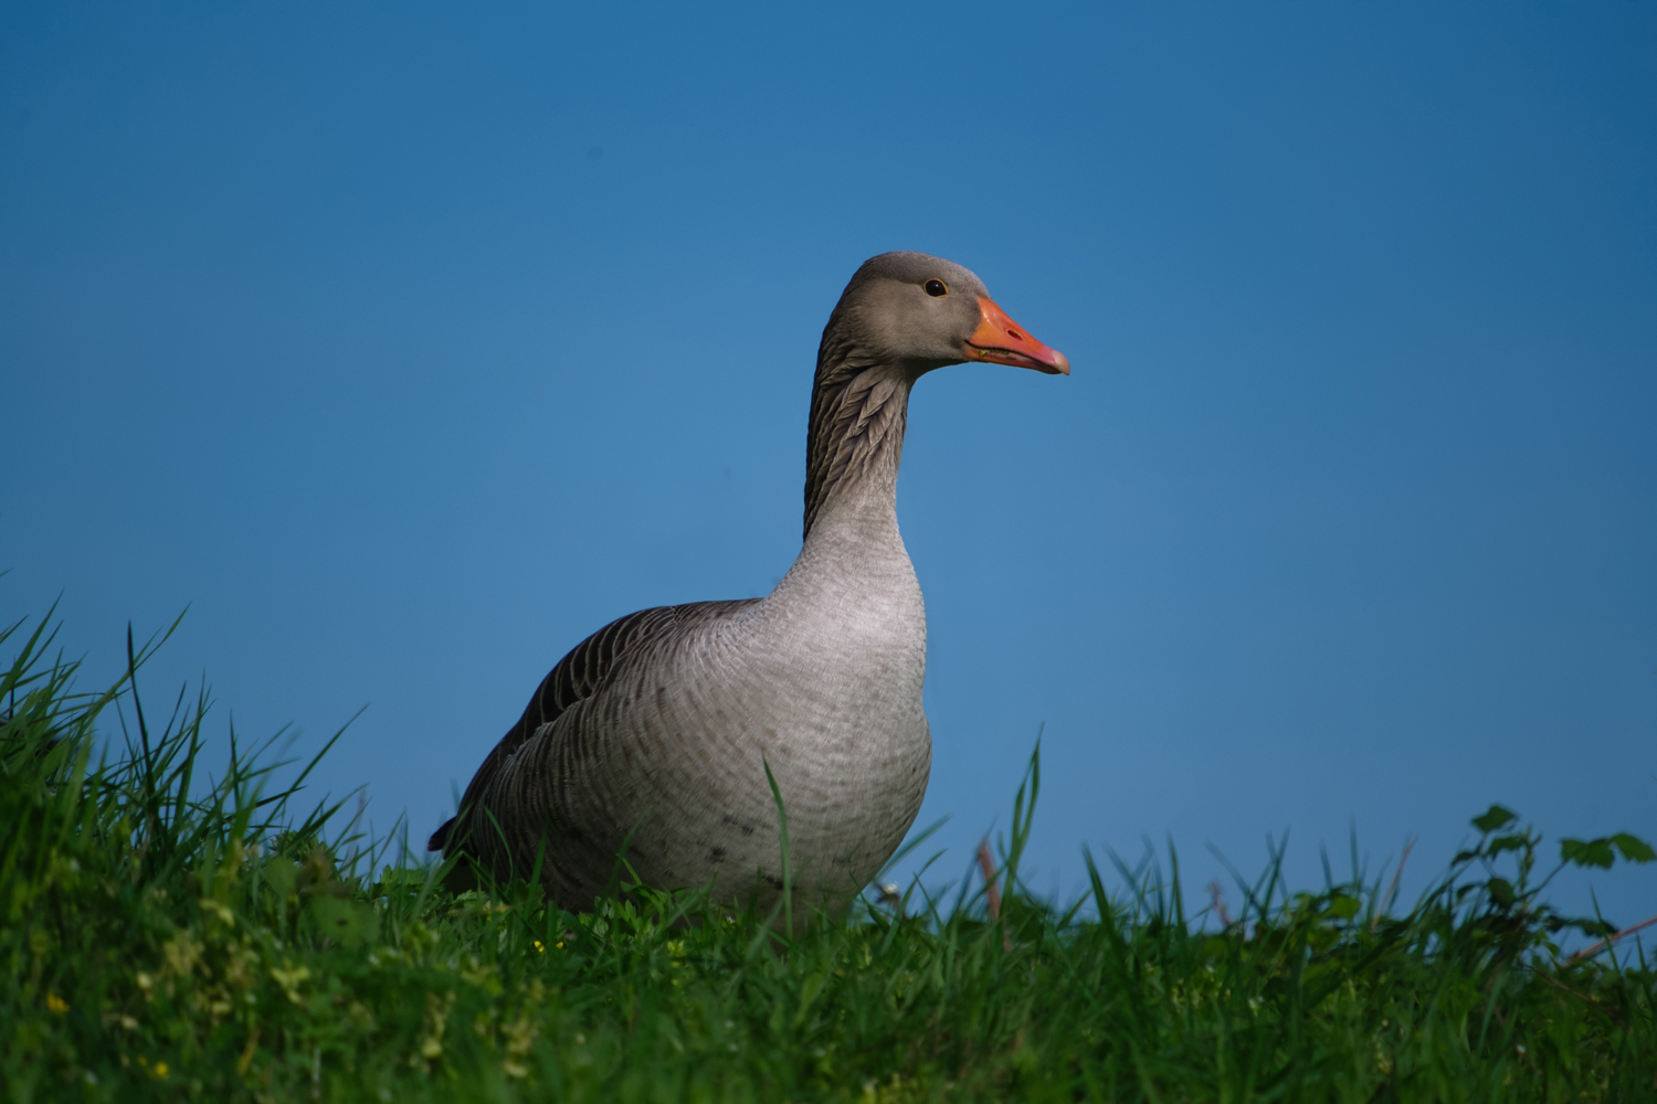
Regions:
[[78, 694], [50, 634], [0, 641], [12, 1101], [1657, 1099], [1657, 973], [1559, 953], [1596, 922], [1544, 902], [1541, 838], [1506, 809], [1408, 910], [1379, 877], [1294, 892], [1276, 862], [1221, 927], [1173, 856], [1031, 894], [1032, 761], [998, 919], [981, 886], [794, 937], [704, 892], [570, 915], [522, 882], [452, 895], [298, 783], [262, 793], [268, 745], [209, 776], [205, 698], [157, 723], [131, 677]]

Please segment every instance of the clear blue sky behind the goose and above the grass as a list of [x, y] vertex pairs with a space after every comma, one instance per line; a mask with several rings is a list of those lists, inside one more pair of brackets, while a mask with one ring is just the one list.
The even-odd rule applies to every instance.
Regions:
[[0, 13], [8, 619], [101, 680], [189, 606], [152, 698], [366, 703], [321, 785], [424, 834], [587, 632], [787, 569], [916, 248], [1075, 366], [913, 401], [941, 871], [1042, 725], [1042, 889], [1657, 838], [1657, 10], [597, 8]]

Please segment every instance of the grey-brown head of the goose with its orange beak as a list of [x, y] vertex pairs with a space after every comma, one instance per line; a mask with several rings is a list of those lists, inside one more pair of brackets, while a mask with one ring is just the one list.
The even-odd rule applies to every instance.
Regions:
[[863, 262], [828, 319], [824, 344], [840, 346], [850, 361], [890, 364], [911, 377], [966, 361], [1070, 374], [1070, 361], [1007, 318], [971, 270], [926, 253]]

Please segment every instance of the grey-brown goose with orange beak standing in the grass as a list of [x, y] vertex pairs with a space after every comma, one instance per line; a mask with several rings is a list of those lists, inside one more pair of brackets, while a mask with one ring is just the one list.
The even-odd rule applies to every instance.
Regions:
[[621, 859], [643, 886], [774, 905], [780, 796], [795, 897], [860, 892], [931, 771], [926, 611], [896, 516], [910, 389], [966, 361], [1070, 374], [961, 265], [867, 260], [817, 353], [794, 566], [764, 598], [641, 609], [570, 649], [428, 849], [497, 879], [539, 869], [572, 912]]

